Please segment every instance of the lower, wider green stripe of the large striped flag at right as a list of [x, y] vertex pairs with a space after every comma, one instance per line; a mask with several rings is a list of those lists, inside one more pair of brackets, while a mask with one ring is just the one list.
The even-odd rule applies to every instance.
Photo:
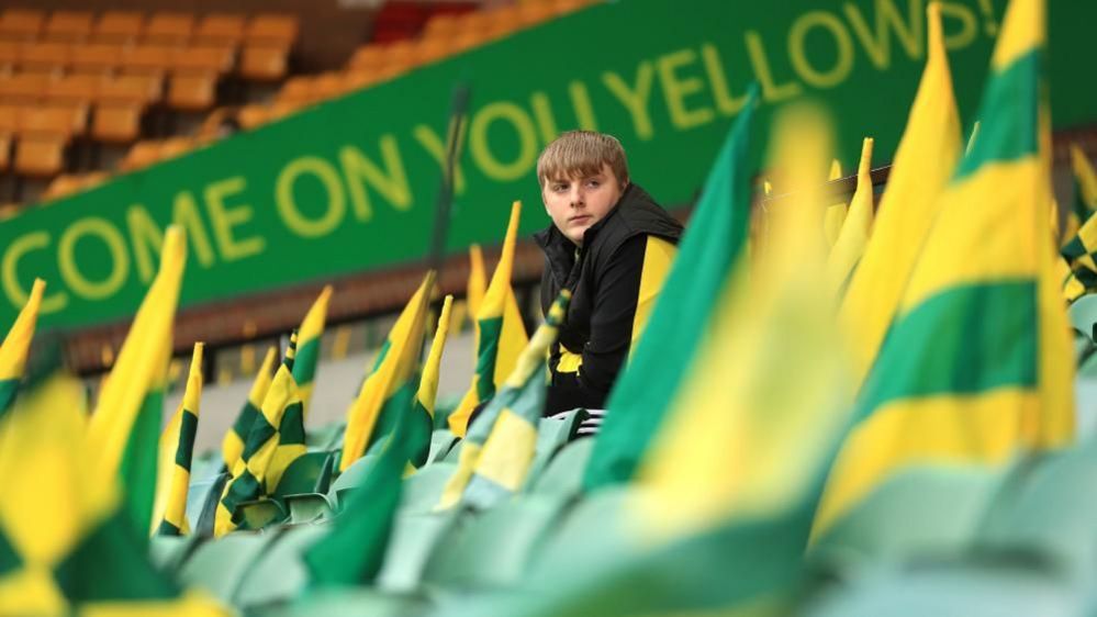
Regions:
[[1034, 386], [1038, 336], [1032, 280], [967, 284], [938, 293], [888, 332], [855, 417], [902, 399]]

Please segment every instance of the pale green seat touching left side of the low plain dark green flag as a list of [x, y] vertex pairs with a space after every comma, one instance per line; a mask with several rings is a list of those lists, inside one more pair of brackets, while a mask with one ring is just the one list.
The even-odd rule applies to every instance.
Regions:
[[309, 582], [302, 554], [327, 534], [328, 527], [288, 527], [269, 550], [259, 556], [240, 581], [237, 606], [251, 607], [284, 602], [301, 593]]

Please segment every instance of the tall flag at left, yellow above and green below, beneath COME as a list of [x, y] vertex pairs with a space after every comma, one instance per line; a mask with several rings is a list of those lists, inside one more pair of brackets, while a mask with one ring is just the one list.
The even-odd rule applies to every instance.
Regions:
[[103, 382], [88, 424], [90, 462], [101, 478], [122, 479], [125, 509], [139, 529], [154, 525], [157, 445], [186, 259], [182, 228], [172, 225], [164, 234], [159, 271]]

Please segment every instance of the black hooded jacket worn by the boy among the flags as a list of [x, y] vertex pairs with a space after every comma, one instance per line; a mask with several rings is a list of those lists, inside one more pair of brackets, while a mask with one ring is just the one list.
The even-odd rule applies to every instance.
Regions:
[[[643, 189], [629, 184], [617, 205], [583, 235], [582, 248], [555, 226], [534, 236], [545, 251], [541, 310], [548, 312], [561, 289], [572, 292], [549, 358], [546, 415], [605, 407], [631, 346], [648, 239], [676, 245], [681, 235], [678, 221]], [[568, 355], [581, 355], [578, 371], [559, 370]]]

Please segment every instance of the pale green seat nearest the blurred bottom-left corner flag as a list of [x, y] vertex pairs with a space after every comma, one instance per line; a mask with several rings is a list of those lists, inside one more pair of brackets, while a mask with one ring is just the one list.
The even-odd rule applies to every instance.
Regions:
[[278, 534], [237, 531], [205, 542], [183, 562], [179, 581], [231, 603], [251, 564], [278, 537]]

